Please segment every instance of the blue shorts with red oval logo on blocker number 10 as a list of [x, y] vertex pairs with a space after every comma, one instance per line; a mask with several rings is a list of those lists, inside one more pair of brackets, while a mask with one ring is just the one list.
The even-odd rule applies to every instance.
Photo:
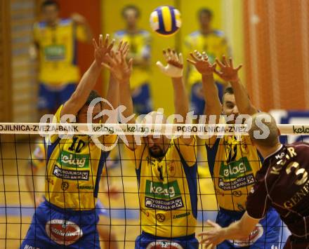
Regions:
[[[44, 201], [35, 210], [24, 248], [100, 248], [96, 209], [64, 210]], [[64, 246], [67, 245], [67, 246]]]

